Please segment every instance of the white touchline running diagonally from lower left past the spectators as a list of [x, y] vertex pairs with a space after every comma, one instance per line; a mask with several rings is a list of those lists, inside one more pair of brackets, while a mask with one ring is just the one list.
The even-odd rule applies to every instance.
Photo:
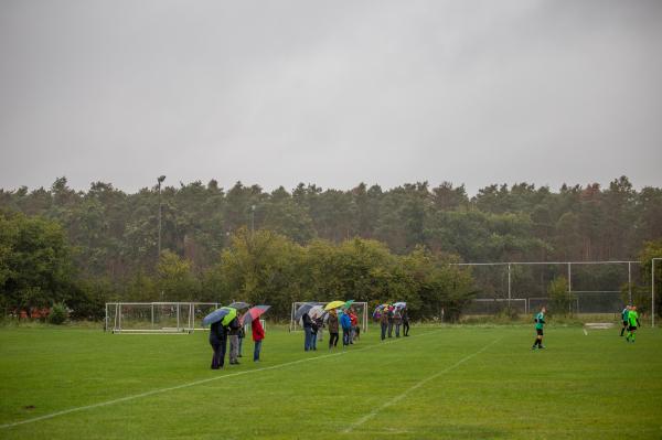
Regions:
[[[425, 336], [425, 335], [428, 335], [428, 334], [435, 334], [439, 330], [433, 330], [430, 332], [425, 332], [425, 333], [420, 333], [420, 334], [412, 335], [412, 336]], [[206, 384], [209, 382], [224, 379], [224, 378], [227, 378], [227, 377], [243, 376], [243, 375], [249, 374], [249, 373], [266, 372], [266, 371], [269, 371], [269, 369], [282, 368], [282, 367], [286, 367], [286, 366], [297, 365], [297, 364], [301, 364], [301, 363], [305, 363], [305, 362], [317, 361], [317, 359], [322, 359], [322, 358], [328, 358], [328, 357], [333, 357], [333, 356], [340, 356], [340, 355], [343, 355], [343, 354], [357, 353], [357, 352], [362, 352], [364, 350], [381, 347], [381, 346], [384, 346], [386, 344], [394, 343], [396, 341], [404, 341], [404, 337], [402, 337], [402, 339], [394, 339], [393, 341], [380, 342], [380, 343], [376, 343], [376, 344], [373, 344], [373, 345], [367, 345], [367, 346], [364, 346], [364, 347], [361, 347], [361, 348], [356, 348], [356, 350], [344, 350], [343, 348], [342, 351], [337, 352], [337, 353], [323, 354], [321, 356], [308, 357], [308, 358], [302, 358], [302, 359], [292, 361], [292, 362], [286, 362], [284, 364], [271, 365], [271, 366], [264, 367], [264, 368], [246, 369], [244, 372], [231, 373], [231, 374], [226, 374], [226, 375], [223, 375], [223, 376], [209, 377], [206, 379], [189, 382], [186, 384], [177, 385], [177, 386], [173, 386], [173, 387], [152, 389], [151, 391], [145, 391], [145, 393], [140, 393], [140, 394], [134, 394], [134, 395], [130, 395], [130, 396], [120, 397], [118, 399], [106, 400], [106, 401], [100, 401], [98, 404], [93, 404], [93, 405], [86, 405], [86, 406], [76, 407], [76, 408], [64, 409], [62, 411], [51, 412], [51, 414], [47, 414], [47, 415], [44, 415], [44, 416], [34, 417], [32, 419], [25, 419], [25, 420], [21, 420], [21, 421], [14, 421], [13, 423], [0, 425], [0, 429], [12, 428], [12, 427], [15, 427], [15, 426], [19, 426], [19, 425], [33, 423], [35, 421], [52, 419], [54, 417], [60, 417], [60, 416], [64, 416], [64, 415], [72, 414], [72, 412], [85, 411], [87, 409], [94, 409], [94, 408], [105, 407], [105, 406], [109, 406], [109, 405], [119, 404], [119, 403], [122, 403], [122, 401], [135, 400], [135, 399], [139, 399], [139, 398], [142, 398], [142, 397], [153, 396], [153, 395], [157, 395], [157, 394], [163, 394], [163, 393], [174, 391], [174, 390], [178, 390], [178, 389], [189, 388], [189, 387], [193, 387], [193, 386], [196, 386], [196, 385]]]

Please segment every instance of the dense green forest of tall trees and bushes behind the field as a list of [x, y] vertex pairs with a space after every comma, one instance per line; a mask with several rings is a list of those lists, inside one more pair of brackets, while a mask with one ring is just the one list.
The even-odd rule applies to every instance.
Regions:
[[127, 194], [60, 178], [0, 190], [0, 288], [6, 312], [65, 301], [90, 319], [110, 299], [248, 299], [286, 314], [290, 301], [337, 296], [408, 299], [433, 316], [476, 293], [449, 261], [644, 259], [661, 238], [662, 190], [636, 191], [626, 176], [472, 197], [448, 182], [269, 193], [210, 181]]

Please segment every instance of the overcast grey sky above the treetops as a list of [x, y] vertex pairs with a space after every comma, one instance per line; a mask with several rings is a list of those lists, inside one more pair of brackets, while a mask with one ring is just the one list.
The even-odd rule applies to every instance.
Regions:
[[662, 186], [662, 1], [0, 0], [0, 187]]

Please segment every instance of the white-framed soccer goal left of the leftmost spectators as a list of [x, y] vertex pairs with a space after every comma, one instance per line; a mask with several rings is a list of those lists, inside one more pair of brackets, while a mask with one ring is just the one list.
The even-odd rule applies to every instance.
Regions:
[[105, 330], [113, 333], [191, 333], [216, 302], [108, 302]]

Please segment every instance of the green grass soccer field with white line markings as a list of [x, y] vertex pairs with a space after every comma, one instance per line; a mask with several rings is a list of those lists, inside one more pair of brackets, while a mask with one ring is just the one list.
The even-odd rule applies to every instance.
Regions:
[[[660, 439], [662, 331], [414, 326], [305, 353], [267, 329], [263, 362], [211, 371], [205, 333], [0, 330], [0, 438]], [[327, 342], [327, 341], [324, 341]], [[22, 422], [22, 423], [21, 423]], [[20, 423], [20, 425], [19, 425]]]

